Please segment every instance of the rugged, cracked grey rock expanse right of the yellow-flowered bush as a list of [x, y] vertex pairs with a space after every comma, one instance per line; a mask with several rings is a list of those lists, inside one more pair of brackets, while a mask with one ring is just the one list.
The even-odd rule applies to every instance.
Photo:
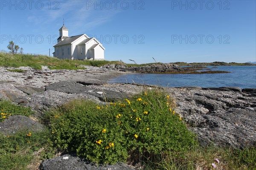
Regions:
[[176, 98], [177, 113], [197, 134], [201, 145], [256, 146], [255, 96], [230, 87], [169, 88], [169, 91]]

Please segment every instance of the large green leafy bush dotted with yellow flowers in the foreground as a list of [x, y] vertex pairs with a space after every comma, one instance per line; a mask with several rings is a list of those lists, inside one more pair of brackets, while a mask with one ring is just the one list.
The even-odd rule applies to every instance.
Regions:
[[[195, 135], [161, 91], [147, 91], [109, 105], [76, 100], [49, 114], [55, 143], [93, 162], [113, 164], [183, 152]], [[131, 158], [130, 158], [131, 159]]]

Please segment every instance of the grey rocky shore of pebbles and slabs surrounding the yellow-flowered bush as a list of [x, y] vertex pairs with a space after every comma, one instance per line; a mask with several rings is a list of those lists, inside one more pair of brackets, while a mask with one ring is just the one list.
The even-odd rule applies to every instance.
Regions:
[[[0, 133], [13, 134], [21, 129], [43, 130], [44, 125], [41, 125], [37, 119], [42, 117], [44, 111], [57, 108], [73, 99], [83, 98], [104, 104], [153, 88], [127, 83], [108, 84], [108, 79], [126, 72], [112, 68], [85, 67], [87, 69], [84, 71], [49, 70], [47, 67], [43, 67], [40, 71], [28, 67], [19, 68], [26, 70], [23, 73], [11, 73], [6, 70], [7, 68], [1, 67], [0, 100], [11, 100], [17, 105], [29, 106], [35, 114], [33, 118], [11, 116], [8, 120], [0, 122]], [[127, 72], [127, 74], [131, 73]], [[162, 87], [155, 86], [155, 88]], [[233, 148], [256, 146], [256, 89], [236, 87], [163, 89], [175, 99], [177, 105], [175, 112], [179, 113], [188, 128], [197, 134], [199, 144]], [[76, 165], [78, 162], [76, 156], [66, 156], [69, 159], [63, 159], [64, 157], [45, 160], [40, 166], [41, 170], [52, 170], [60, 164], [66, 164], [68, 169], [70, 164]], [[83, 163], [77, 166], [78, 169], [85, 169]], [[102, 170], [104, 168], [114, 169], [114, 167], [102, 167]], [[125, 168], [134, 169], [122, 164], [121, 169]]]

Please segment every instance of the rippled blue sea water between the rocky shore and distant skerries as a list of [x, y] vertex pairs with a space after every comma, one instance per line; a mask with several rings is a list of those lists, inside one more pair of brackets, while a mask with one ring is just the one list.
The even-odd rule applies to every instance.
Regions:
[[[256, 88], [256, 66], [209, 66], [211, 70], [229, 71], [220, 74], [128, 74], [109, 80], [109, 83], [128, 82], [163, 87], [224, 87]], [[205, 70], [202, 70], [205, 71]]]

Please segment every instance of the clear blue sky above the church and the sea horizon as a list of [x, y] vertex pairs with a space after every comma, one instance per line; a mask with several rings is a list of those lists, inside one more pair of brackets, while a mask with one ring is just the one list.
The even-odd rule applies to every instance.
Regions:
[[131, 63], [256, 61], [255, 0], [0, 1], [0, 50], [49, 54], [63, 24], [87, 34], [105, 59]]

